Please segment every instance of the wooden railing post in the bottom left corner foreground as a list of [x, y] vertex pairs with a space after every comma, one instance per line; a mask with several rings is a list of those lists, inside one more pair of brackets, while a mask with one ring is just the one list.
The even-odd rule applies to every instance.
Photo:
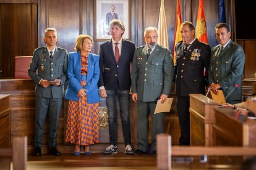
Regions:
[[12, 148], [0, 148], [0, 157], [11, 157], [14, 170], [27, 169], [27, 136], [14, 137]]

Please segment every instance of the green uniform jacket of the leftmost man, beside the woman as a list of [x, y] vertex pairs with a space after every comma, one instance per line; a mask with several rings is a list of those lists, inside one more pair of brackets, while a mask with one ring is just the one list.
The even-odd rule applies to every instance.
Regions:
[[[56, 47], [52, 61], [46, 46], [35, 49], [28, 68], [28, 75], [36, 84], [36, 96], [53, 99], [64, 97], [63, 86], [67, 79], [67, 59], [67, 51], [60, 47]], [[61, 79], [62, 84], [61, 86], [48, 86], [45, 88], [39, 84], [41, 79], [47, 79], [48, 81]]]

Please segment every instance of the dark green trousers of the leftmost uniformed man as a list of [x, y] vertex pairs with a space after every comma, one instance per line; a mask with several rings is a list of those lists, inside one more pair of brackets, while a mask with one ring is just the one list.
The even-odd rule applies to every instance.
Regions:
[[58, 135], [59, 114], [61, 112], [62, 98], [49, 99], [36, 97], [35, 140], [34, 147], [42, 147], [45, 118], [49, 110], [49, 142], [48, 147], [56, 147]]

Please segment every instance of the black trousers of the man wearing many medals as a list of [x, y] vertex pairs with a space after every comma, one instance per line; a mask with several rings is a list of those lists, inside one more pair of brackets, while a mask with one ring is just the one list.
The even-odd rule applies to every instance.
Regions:
[[189, 97], [177, 96], [177, 113], [179, 117], [179, 127], [181, 127], [180, 145], [190, 144], [190, 114]]

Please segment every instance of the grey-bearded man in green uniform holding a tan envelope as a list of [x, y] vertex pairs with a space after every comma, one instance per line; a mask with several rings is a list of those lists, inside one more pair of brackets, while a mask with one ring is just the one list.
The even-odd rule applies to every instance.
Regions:
[[151, 147], [156, 154], [156, 134], [163, 133], [164, 113], [154, 115], [156, 100], [164, 103], [171, 91], [174, 66], [171, 51], [159, 46], [155, 27], [144, 32], [145, 46], [138, 47], [132, 62], [132, 100], [138, 101], [138, 147], [134, 155], [148, 149], [148, 116], [151, 114]]

